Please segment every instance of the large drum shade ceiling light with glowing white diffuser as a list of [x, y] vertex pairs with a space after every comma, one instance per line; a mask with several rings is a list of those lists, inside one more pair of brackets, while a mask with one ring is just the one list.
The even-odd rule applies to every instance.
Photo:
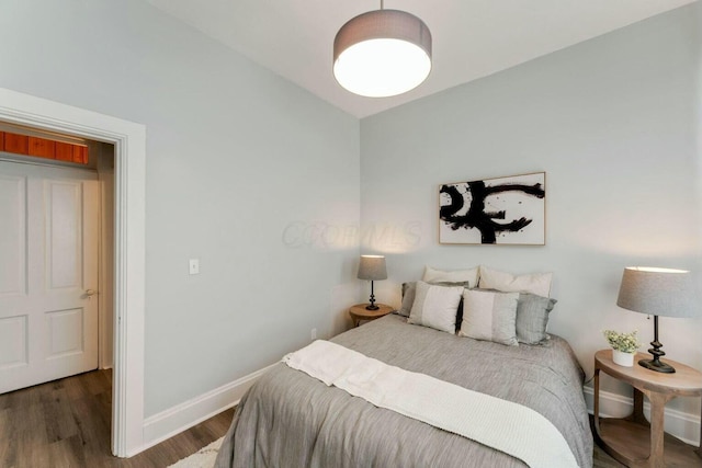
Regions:
[[414, 14], [381, 9], [347, 22], [333, 39], [333, 76], [344, 89], [388, 98], [421, 84], [431, 71], [431, 33]]

